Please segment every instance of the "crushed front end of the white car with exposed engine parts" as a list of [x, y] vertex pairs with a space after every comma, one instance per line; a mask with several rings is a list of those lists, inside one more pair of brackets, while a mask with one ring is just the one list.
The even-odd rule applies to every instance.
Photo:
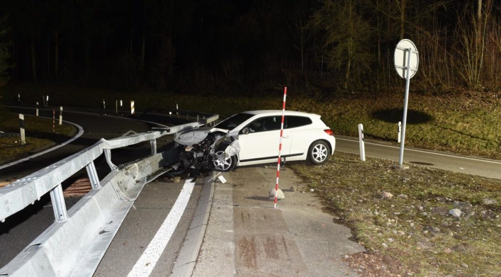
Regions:
[[201, 172], [228, 171], [234, 167], [239, 151], [238, 139], [228, 130], [195, 128], [176, 133], [174, 138], [179, 164], [170, 176], [189, 174], [197, 178]]

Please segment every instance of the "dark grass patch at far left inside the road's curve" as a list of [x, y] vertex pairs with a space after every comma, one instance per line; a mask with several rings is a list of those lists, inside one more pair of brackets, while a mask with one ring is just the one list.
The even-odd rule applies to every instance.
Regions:
[[[26, 144], [21, 145], [19, 136], [0, 137], [0, 161], [11, 161], [20, 155], [34, 153], [37, 149], [67, 140], [75, 129], [66, 123], [55, 123], [55, 132], [52, 132], [52, 120], [36, 116], [24, 117]], [[2, 113], [0, 130], [19, 133], [19, 115]]]

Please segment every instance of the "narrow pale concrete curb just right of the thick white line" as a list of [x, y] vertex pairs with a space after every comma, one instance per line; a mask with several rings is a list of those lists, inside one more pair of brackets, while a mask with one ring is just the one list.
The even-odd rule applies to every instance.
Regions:
[[174, 268], [172, 268], [172, 272], [169, 276], [184, 277], [191, 276], [193, 273], [212, 209], [212, 200], [214, 196], [214, 185], [212, 185], [212, 180], [215, 179], [216, 176], [217, 175], [214, 175], [213, 172], [204, 179], [204, 187], [202, 188], [202, 193], [190, 229], [186, 234], [184, 243], [177, 255]]

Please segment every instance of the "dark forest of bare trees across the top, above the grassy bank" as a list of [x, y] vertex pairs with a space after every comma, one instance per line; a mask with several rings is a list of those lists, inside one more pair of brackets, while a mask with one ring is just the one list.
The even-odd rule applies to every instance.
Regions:
[[498, 88], [500, 4], [2, 1], [0, 70], [10, 82], [120, 90], [373, 94], [402, 85], [393, 51], [408, 38], [420, 51], [420, 89]]

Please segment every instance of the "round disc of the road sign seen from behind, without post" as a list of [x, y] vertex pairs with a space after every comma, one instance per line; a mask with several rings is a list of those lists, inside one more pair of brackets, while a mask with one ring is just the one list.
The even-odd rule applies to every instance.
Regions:
[[397, 47], [395, 47], [395, 70], [404, 79], [407, 78], [409, 49], [411, 51], [410, 78], [412, 78], [416, 74], [419, 65], [419, 52], [416, 45], [408, 39], [402, 39], [398, 42]]

